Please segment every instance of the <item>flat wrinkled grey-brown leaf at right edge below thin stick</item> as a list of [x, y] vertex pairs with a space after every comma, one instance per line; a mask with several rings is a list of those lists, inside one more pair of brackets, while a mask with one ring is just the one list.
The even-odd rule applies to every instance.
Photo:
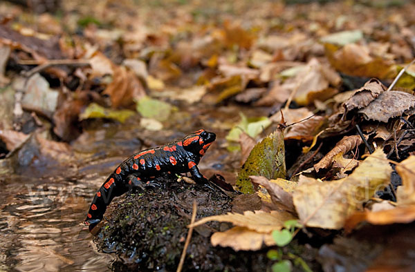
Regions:
[[367, 120], [387, 123], [392, 117], [402, 115], [405, 110], [415, 107], [415, 96], [398, 90], [384, 92], [371, 104], [359, 110]]

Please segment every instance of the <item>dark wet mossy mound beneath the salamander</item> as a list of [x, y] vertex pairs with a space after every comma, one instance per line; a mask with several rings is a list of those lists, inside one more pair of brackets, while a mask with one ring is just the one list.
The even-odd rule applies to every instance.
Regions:
[[[107, 211], [107, 222], [94, 242], [117, 259], [115, 271], [176, 271], [197, 203], [196, 220], [232, 211], [232, 197], [217, 189], [159, 179], [145, 191], [127, 193]], [[183, 271], [270, 271], [273, 261], [261, 251], [214, 247], [210, 236], [230, 224], [209, 222], [194, 229]]]

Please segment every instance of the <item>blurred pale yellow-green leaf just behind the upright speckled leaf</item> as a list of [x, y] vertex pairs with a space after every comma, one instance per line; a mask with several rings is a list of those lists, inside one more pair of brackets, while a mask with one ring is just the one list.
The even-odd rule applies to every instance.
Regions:
[[256, 137], [271, 124], [271, 121], [268, 119], [268, 117], [247, 118], [243, 113], [239, 113], [239, 115], [241, 116], [241, 121], [233, 126], [233, 128], [226, 136], [225, 139], [228, 141], [238, 142], [239, 135], [241, 135], [242, 132], [250, 135], [250, 137]]

